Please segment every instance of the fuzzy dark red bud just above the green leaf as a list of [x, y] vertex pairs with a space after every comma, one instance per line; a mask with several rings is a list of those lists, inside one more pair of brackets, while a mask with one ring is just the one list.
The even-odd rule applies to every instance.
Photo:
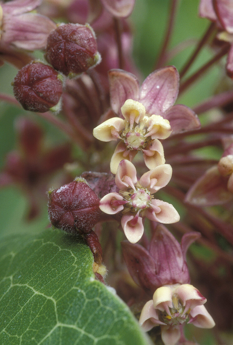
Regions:
[[99, 198], [82, 177], [49, 191], [49, 218], [55, 227], [68, 233], [87, 234], [99, 221]]

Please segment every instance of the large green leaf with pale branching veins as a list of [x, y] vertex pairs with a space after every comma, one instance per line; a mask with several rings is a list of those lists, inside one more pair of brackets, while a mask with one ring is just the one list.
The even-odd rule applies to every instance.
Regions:
[[0, 344], [148, 344], [80, 237], [48, 229], [3, 239], [0, 253]]

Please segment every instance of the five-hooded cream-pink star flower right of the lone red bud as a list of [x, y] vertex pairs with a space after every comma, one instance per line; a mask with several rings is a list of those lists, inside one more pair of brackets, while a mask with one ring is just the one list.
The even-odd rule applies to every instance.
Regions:
[[122, 211], [121, 226], [125, 236], [131, 243], [136, 243], [144, 231], [143, 217], [165, 224], [179, 221], [180, 216], [171, 204], [153, 196], [169, 183], [171, 176], [171, 166], [163, 164], [145, 172], [138, 181], [134, 165], [122, 160], [115, 176], [119, 193], [105, 195], [99, 207], [104, 213], [112, 215]]

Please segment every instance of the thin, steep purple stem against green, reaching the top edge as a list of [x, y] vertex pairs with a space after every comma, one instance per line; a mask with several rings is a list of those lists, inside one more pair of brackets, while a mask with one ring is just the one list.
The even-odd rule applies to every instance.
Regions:
[[163, 41], [163, 46], [161, 48], [159, 58], [158, 58], [157, 62], [155, 63], [153, 70], [162, 67], [164, 64], [164, 60], [166, 57], [166, 50], [168, 48], [168, 45], [169, 45], [169, 42], [170, 42], [170, 39], [172, 36], [173, 28], [174, 28], [174, 21], [175, 21], [177, 4], [178, 4], [178, 0], [171, 0], [170, 16], [169, 16], [169, 20], [168, 20], [168, 26], [166, 29], [166, 34], [165, 34], [164, 41]]

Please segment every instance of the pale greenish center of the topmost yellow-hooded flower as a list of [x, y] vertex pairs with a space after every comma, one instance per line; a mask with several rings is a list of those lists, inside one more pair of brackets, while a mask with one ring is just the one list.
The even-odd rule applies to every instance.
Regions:
[[146, 121], [142, 120], [139, 124], [134, 122], [132, 129], [130, 124], [125, 121], [125, 129], [121, 133], [121, 140], [128, 150], [141, 150], [146, 147], [150, 137], [145, 137], [147, 133]]

